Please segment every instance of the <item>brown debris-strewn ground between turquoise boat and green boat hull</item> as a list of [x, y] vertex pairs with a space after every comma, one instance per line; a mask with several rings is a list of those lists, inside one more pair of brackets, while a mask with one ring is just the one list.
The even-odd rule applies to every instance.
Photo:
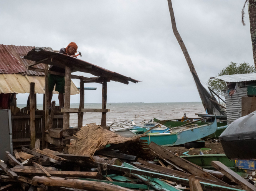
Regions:
[[[188, 152], [189, 155], [198, 155], [198, 154], [200, 154], [199, 150], [201, 149], [201, 148], [186, 149], [185, 147], [164, 147], [164, 148], [167, 149], [168, 151], [172, 151], [172, 152], [176, 151], [181, 156], [183, 155], [182, 153], [184, 153], [186, 151], [189, 151]], [[203, 154], [225, 154], [220, 142], [213, 142], [211, 140], [205, 141], [204, 148], [208, 148], [211, 150], [210, 151], [202, 151]]]

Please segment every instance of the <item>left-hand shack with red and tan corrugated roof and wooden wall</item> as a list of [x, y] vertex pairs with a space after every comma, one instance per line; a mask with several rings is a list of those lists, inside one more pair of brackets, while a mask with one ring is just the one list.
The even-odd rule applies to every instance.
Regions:
[[[30, 83], [35, 83], [35, 93], [45, 94], [45, 76], [40, 71], [27, 70], [26, 66], [34, 63], [22, 59], [35, 47], [0, 44], [0, 109], [10, 109], [12, 112], [13, 147], [30, 145], [30, 115], [29, 107], [18, 108], [16, 94], [30, 93]], [[51, 48], [43, 48], [53, 51]], [[44, 70], [44, 64], [35, 66]], [[53, 91], [54, 94], [58, 92]], [[79, 94], [79, 90], [71, 81], [71, 95]], [[36, 94], [35, 94], [36, 95]], [[35, 96], [36, 97], [36, 96]], [[61, 114], [61, 113], [60, 113]], [[36, 114], [36, 138], [41, 138], [42, 114]], [[55, 117], [53, 128], [63, 125], [63, 115]], [[0, 131], [1, 132], [1, 131]]]

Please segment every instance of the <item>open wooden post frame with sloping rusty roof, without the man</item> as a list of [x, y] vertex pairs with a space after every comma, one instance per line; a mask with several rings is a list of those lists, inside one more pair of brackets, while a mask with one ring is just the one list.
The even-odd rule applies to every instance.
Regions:
[[[28, 70], [40, 71], [45, 73], [45, 125], [42, 127], [42, 148], [48, 147], [49, 143], [56, 146], [66, 146], [69, 144], [69, 140], [75, 138], [74, 133], [79, 131], [81, 126], [83, 126], [83, 113], [84, 112], [100, 112], [101, 115], [101, 126], [107, 128], [107, 112], [109, 110], [106, 108], [107, 105], [107, 82], [117, 81], [120, 83], [128, 84], [129, 81], [137, 83], [139, 81], [123, 76], [121, 74], [106, 70], [99, 66], [93, 65], [91, 63], [79, 60], [68, 55], [61, 53], [51, 52], [41, 48], [35, 48], [30, 50], [27, 55], [23, 57], [27, 60], [32, 60], [35, 63], [28, 65]], [[43, 63], [45, 64], [45, 71], [43, 69], [34, 68], [32, 66]], [[60, 68], [65, 68], [65, 74], [58, 73], [54, 71], [49, 71], [48, 65], [58, 66]], [[84, 73], [90, 73], [97, 77], [86, 78], [84, 76], [72, 75], [71, 72], [81, 71]], [[49, 105], [48, 105], [48, 74], [55, 74], [65, 76], [65, 96], [64, 96], [64, 108], [61, 108], [60, 112], [63, 112], [63, 128], [61, 129], [51, 129], [51, 120], [55, 114], [55, 109], [51, 110], [49, 117]], [[80, 103], [79, 108], [70, 108], [70, 85], [71, 78], [80, 79]], [[100, 83], [102, 84], [102, 109], [85, 109], [84, 108], [84, 83]], [[35, 85], [35, 84], [34, 84]], [[35, 118], [35, 99], [33, 97], [33, 83], [30, 85], [30, 119], [33, 121]], [[55, 103], [55, 102], [54, 102]], [[55, 107], [55, 104], [52, 105]], [[54, 108], [53, 107], [53, 108]], [[33, 109], [34, 108], [34, 109]], [[69, 128], [69, 113], [78, 113], [78, 128]], [[31, 147], [35, 148], [35, 136], [33, 132], [35, 129], [35, 124], [30, 123], [31, 131]], [[65, 147], [67, 149], [67, 147]]]

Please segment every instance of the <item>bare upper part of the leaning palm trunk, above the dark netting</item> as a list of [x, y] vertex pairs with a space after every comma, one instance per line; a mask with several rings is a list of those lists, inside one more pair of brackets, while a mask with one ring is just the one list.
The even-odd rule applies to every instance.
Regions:
[[[170, 11], [170, 16], [171, 16], [171, 21], [172, 21], [173, 33], [174, 33], [176, 39], [178, 40], [178, 43], [180, 44], [180, 48], [182, 49], [182, 52], [183, 52], [183, 54], [185, 56], [185, 59], [188, 63], [188, 67], [189, 67], [190, 71], [197, 76], [197, 72], [196, 72], [195, 67], [192, 63], [192, 60], [191, 60], [191, 58], [188, 54], [188, 50], [187, 50], [180, 34], [178, 33], [178, 30], [177, 30], [177, 27], [176, 27], [174, 12], [173, 12], [173, 9], [172, 9], [172, 0], [168, 0], [168, 5], [169, 5], [169, 11]], [[198, 76], [197, 76], [197, 78], [198, 78]]]

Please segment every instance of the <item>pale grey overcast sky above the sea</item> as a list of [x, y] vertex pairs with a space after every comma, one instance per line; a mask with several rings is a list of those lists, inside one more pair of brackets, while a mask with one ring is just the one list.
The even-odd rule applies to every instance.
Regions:
[[[178, 32], [204, 83], [230, 62], [253, 65], [248, 7], [247, 25], [241, 23], [244, 2], [172, 0]], [[200, 101], [167, 0], [1, 0], [0, 28], [0, 44], [59, 50], [76, 42], [82, 60], [142, 81], [111, 81], [107, 102]], [[101, 84], [85, 87], [97, 87], [85, 91], [85, 102], [101, 102]], [[19, 94], [17, 103], [27, 96]], [[42, 103], [42, 95], [37, 100]], [[78, 102], [79, 95], [71, 96], [71, 103]]]

